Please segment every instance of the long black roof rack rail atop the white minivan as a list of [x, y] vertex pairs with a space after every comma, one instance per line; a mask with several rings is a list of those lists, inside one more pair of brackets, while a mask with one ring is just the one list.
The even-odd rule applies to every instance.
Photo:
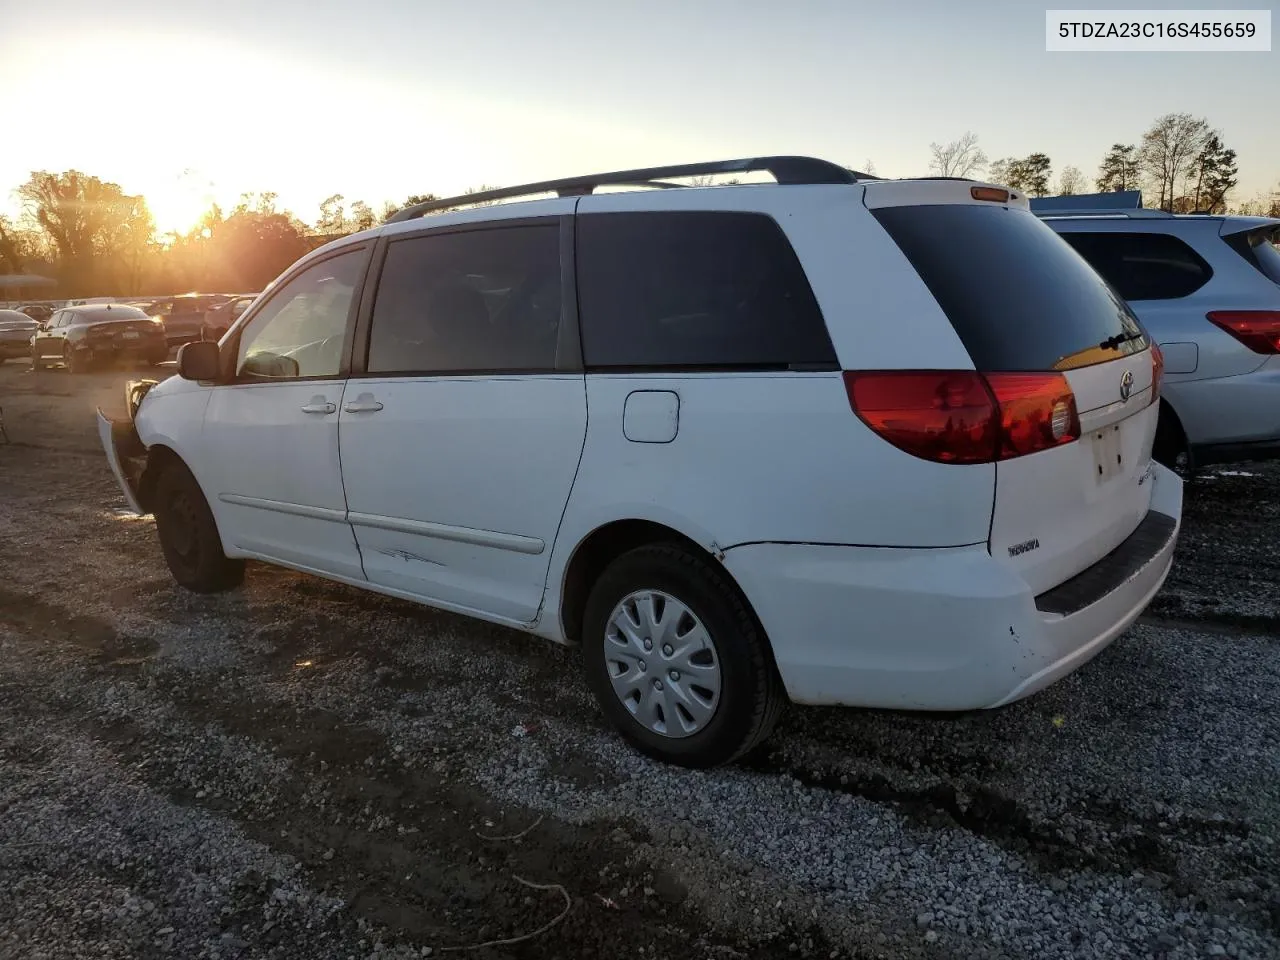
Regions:
[[540, 183], [524, 183], [517, 187], [499, 187], [497, 189], [484, 189], [476, 193], [463, 193], [460, 197], [445, 200], [429, 200], [424, 204], [413, 204], [387, 219], [387, 223], [401, 223], [413, 220], [422, 214], [431, 214], [436, 210], [470, 206], [471, 204], [486, 204], [494, 200], [509, 200], [512, 197], [527, 197], [538, 193], [556, 193], [561, 197], [581, 197], [595, 191], [596, 187], [682, 187], [680, 183], [666, 183], [673, 177], [708, 177], [712, 174], [730, 173], [755, 173], [765, 170], [773, 175], [778, 183], [856, 183], [858, 180], [878, 180], [869, 173], [850, 170], [840, 164], [827, 160], [818, 160], [812, 156], [754, 156], [740, 160], [716, 160], [701, 164], [678, 164], [676, 166], [649, 166], [639, 170], [616, 170], [613, 173], [596, 173], [588, 177], [570, 177], [562, 180], [541, 180]]

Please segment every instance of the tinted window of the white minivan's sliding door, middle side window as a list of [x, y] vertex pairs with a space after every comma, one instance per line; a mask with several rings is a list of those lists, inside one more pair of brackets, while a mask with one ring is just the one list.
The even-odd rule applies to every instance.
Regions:
[[378, 282], [369, 372], [553, 370], [559, 227], [394, 241]]

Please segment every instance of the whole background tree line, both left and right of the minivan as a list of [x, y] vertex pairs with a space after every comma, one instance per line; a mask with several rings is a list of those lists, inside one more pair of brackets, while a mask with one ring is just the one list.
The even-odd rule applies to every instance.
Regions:
[[[929, 151], [937, 175], [984, 174], [1036, 197], [1142, 188], [1148, 206], [1156, 201], [1175, 212], [1230, 209], [1280, 216], [1280, 187], [1229, 206], [1238, 184], [1235, 151], [1207, 119], [1189, 114], [1161, 116], [1139, 141], [1114, 145], [1092, 188], [1075, 166], [1064, 166], [1055, 182], [1052, 161], [1043, 152], [988, 161], [969, 132], [946, 145], [931, 143]], [[876, 173], [870, 160], [859, 166]], [[490, 187], [467, 193], [484, 189]], [[211, 206], [186, 233], [157, 236], [145, 197], [78, 170], [33, 172], [15, 193], [23, 212], [17, 221], [0, 216], [0, 274], [51, 276], [58, 288], [50, 296], [58, 297], [259, 291], [308, 250], [435, 200], [431, 193], [415, 195], [375, 212], [364, 201], [348, 204], [334, 193], [320, 202], [308, 224], [280, 209], [275, 193], [244, 193], [230, 210]]]

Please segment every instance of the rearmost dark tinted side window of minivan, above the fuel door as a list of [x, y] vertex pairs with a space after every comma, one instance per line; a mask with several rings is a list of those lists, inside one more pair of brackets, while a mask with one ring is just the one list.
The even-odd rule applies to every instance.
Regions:
[[590, 367], [833, 367], [795, 251], [760, 214], [577, 219], [579, 307]]

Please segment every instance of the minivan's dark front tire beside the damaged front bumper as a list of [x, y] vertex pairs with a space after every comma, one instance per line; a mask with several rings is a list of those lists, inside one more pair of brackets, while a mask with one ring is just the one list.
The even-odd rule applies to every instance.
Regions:
[[241, 584], [244, 561], [223, 553], [212, 511], [184, 463], [169, 463], [157, 477], [154, 513], [160, 549], [179, 586], [212, 594]]

